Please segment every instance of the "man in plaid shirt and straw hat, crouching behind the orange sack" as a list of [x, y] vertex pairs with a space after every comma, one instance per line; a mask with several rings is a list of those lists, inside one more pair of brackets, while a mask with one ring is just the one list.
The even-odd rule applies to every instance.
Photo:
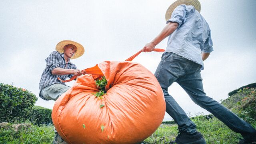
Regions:
[[[56, 51], [53, 51], [46, 59], [46, 68], [42, 73], [39, 83], [40, 98], [44, 100], [57, 100], [70, 87], [66, 86], [57, 78], [62, 80], [72, 76], [80, 76], [86, 72], [76, 68], [76, 65], [70, 62], [70, 59], [78, 58], [84, 54], [84, 47], [71, 40], [63, 40], [56, 45]], [[66, 144], [55, 130], [54, 144]]]

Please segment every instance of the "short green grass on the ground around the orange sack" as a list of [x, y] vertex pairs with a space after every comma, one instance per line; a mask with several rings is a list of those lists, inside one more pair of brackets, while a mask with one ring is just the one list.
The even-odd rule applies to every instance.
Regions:
[[[242, 138], [215, 117], [206, 119], [200, 115], [192, 121], [196, 123], [207, 144], [236, 144], [238, 138]], [[256, 127], [256, 121], [251, 124]], [[167, 144], [177, 136], [177, 128], [177, 124], [161, 124], [142, 144]], [[14, 132], [11, 127], [0, 129], [0, 144], [52, 144], [53, 137], [54, 126], [32, 126], [18, 132]]]

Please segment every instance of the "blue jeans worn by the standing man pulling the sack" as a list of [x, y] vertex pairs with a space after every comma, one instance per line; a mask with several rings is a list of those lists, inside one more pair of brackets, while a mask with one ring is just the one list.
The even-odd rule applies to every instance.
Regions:
[[178, 124], [178, 130], [192, 134], [196, 132], [196, 125], [188, 118], [174, 98], [168, 94], [168, 87], [173, 82], [177, 82], [197, 105], [211, 112], [234, 132], [242, 134], [245, 139], [255, 136], [256, 130], [250, 124], [216, 100], [206, 96], [200, 74], [201, 67], [200, 64], [178, 54], [166, 52], [162, 55], [156, 69], [155, 76], [164, 92], [166, 112]]

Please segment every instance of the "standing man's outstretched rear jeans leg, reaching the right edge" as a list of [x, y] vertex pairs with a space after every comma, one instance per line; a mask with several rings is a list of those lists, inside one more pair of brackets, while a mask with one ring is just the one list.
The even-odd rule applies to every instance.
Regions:
[[200, 70], [186, 74], [180, 80], [177, 80], [177, 83], [188, 93], [196, 104], [211, 112], [231, 130], [242, 134], [246, 140], [256, 140], [256, 130], [250, 124], [239, 118], [219, 102], [206, 96]]

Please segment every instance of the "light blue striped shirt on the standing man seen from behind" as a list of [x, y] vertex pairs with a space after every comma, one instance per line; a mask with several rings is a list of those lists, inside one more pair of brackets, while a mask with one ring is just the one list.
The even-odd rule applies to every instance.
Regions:
[[213, 51], [211, 30], [206, 20], [193, 7], [185, 4], [177, 6], [170, 20], [177, 22], [178, 28], [168, 37], [166, 52], [173, 52], [202, 65], [201, 53]]

